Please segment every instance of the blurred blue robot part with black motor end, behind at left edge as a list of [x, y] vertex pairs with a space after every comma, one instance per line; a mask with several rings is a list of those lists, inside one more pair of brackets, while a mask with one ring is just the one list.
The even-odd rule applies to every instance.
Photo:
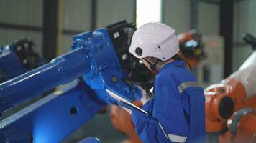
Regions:
[[34, 50], [34, 42], [20, 39], [7, 46], [0, 46], [0, 83], [45, 64]]

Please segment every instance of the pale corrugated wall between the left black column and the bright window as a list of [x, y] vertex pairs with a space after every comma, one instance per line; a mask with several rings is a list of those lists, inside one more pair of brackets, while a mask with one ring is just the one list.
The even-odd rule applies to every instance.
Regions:
[[[64, 0], [63, 2], [63, 29], [72, 31], [91, 30], [91, 3], [92, 0]], [[117, 21], [127, 20], [135, 22], [134, 0], [97, 0], [96, 1], [96, 29]], [[63, 34], [60, 53], [70, 51], [72, 34]]]

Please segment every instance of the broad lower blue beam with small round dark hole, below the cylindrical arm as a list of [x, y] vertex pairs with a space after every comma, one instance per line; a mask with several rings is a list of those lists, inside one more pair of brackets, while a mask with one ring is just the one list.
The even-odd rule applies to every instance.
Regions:
[[0, 142], [61, 142], [104, 106], [83, 81], [68, 84], [0, 122]]

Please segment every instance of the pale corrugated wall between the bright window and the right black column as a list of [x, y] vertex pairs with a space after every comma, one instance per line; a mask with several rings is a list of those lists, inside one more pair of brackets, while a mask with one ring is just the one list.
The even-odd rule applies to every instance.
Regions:
[[[164, 0], [163, 9], [163, 22], [176, 29], [177, 34], [191, 29], [190, 0]], [[198, 2], [198, 30], [206, 35], [219, 34], [218, 4]]]

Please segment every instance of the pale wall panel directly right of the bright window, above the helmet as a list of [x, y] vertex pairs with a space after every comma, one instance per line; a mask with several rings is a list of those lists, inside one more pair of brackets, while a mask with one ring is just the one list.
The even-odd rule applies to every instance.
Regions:
[[164, 0], [163, 9], [163, 22], [173, 27], [177, 34], [190, 29], [189, 0]]

